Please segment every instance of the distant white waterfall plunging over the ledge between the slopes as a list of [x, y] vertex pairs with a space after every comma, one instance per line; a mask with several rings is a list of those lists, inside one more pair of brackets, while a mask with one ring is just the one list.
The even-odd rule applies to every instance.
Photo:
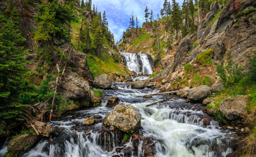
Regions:
[[142, 72], [143, 75], [151, 75], [153, 73], [150, 60], [147, 54], [134, 54], [120, 52], [125, 60], [126, 66], [130, 71], [135, 71], [137, 74]]

